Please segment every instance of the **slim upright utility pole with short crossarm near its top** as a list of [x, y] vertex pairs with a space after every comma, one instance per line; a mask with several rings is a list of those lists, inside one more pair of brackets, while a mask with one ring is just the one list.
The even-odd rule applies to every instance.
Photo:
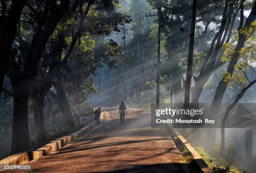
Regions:
[[157, 63], [156, 63], [156, 109], [159, 109], [160, 103], [160, 38], [161, 38], [161, 3], [158, 0], [157, 14], [146, 14], [146, 17], [158, 16], [158, 40], [157, 40]]

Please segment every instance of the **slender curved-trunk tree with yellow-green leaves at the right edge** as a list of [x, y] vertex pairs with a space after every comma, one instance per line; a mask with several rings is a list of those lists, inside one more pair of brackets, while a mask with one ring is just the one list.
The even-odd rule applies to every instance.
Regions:
[[[255, 23], [255, 22], [254, 22]], [[248, 30], [252, 28], [247, 28], [243, 30], [243, 33], [248, 34]], [[256, 83], [255, 74], [256, 70], [253, 67], [253, 62], [256, 61], [256, 51], [255, 51], [255, 33], [250, 39], [246, 41], [246, 46], [238, 52], [236, 60], [238, 63], [234, 65], [234, 74], [230, 74], [227, 71], [223, 73], [223, 79], [228, 84], [229, 88], [236, 88], [238, 90], [238, 95], [232, 104], [230, 104], [224, 114], [222, 125], [221, 125], [221, 145], [220, 145], [220, 156], [224, 153], [225, 148], [225, 123], [228, 118], [230, 111], [236, 106], [236, 104], [243, 98], [243, 95], [248, 89], [250, 89], [254, 83]], [[232, 48], [232, 46], [230, 46]], [[230, 59], [230, 47], [226, 47], [225, 56], [222, 60], [227, 61]], [[233, 51], [231, 51], [233, 52]], [[229, 54], [229, 55], [227, 55]]]

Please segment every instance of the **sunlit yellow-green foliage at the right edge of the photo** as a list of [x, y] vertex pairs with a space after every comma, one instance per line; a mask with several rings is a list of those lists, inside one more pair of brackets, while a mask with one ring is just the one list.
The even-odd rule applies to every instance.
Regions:
[[[222, 74], [223, 80], [230, 89], [234, 87], [239, 93], [255, 79], [256, 71], [253, 63], [256, 62], [256, 37], [255, 33], [252, 33], [255, 29], [256, 22], [254, 21], [249, 27], [239, 30], [239, 33], [235, 35], [230, 43], [225, 43], [222, 46], [223, 56], [220, 58], [221, 61], [228, 62], [231, 58], [236, 58], [238, 62], [234, 65], [235, 72], [233, 75], [228, 73], [228, 71]], [[245, 35], [248, 40], [245, 46], [236, 52], [235, 47], [239, 34]]]

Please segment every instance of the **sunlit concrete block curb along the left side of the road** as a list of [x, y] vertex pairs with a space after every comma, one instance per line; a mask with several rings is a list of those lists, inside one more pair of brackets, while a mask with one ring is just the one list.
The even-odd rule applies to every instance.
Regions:
[[[104, 117], [104, 112], [100, 114], [101, 121], [103, 121], [103, 117]], [[19, 165], [19, 164], [28, 163], [29, 161], [35, 160], [37, 158], [41, 158], [44, 155], [50, 155], [51, 153], [54, 153], [55, 151], [63, 148], [65, 145], [68, 145], [74, 142], [74, 140], [77, 140], [84, 134], [88, 133], [93, 128], [95, 128], [95, 126], [96, 126], [96, 121], [93, 121], [92, 123], [86, 125], [84, 128], [78, 130], [77, 132], [64, 136], [62, 138], [53, 140], [50, 143], [44, 145], [43, 147], [37, 149], [36, 151], [29, 151], [29, 152], [24, 151], [24, 152], [10, 155], [8, 158], [0, 160], [0, 165]]]

